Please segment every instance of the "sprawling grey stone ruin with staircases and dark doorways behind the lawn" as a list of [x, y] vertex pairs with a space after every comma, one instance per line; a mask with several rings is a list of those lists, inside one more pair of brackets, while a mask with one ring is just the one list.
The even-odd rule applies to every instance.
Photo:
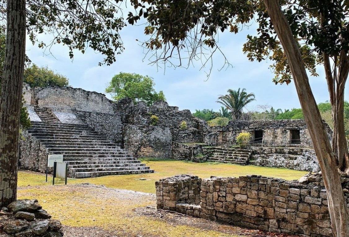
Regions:
[[[34, 126], [23, 132], [21, 169], [45, 172], [47, 155], [63, 154], [69, 176], [75, 178], [154, 172], [137, 160], [143, 157], [319, 171], [304, 120], [230, 121], [226, 127], [209, 127], [190, 110], [164, 101], [147, 107], [80, 88], [23, 90]], [[152, 115], [157, 124], [151, 125]], [[246, 131], [251, 146], [232, 147], [239, 132]]]

